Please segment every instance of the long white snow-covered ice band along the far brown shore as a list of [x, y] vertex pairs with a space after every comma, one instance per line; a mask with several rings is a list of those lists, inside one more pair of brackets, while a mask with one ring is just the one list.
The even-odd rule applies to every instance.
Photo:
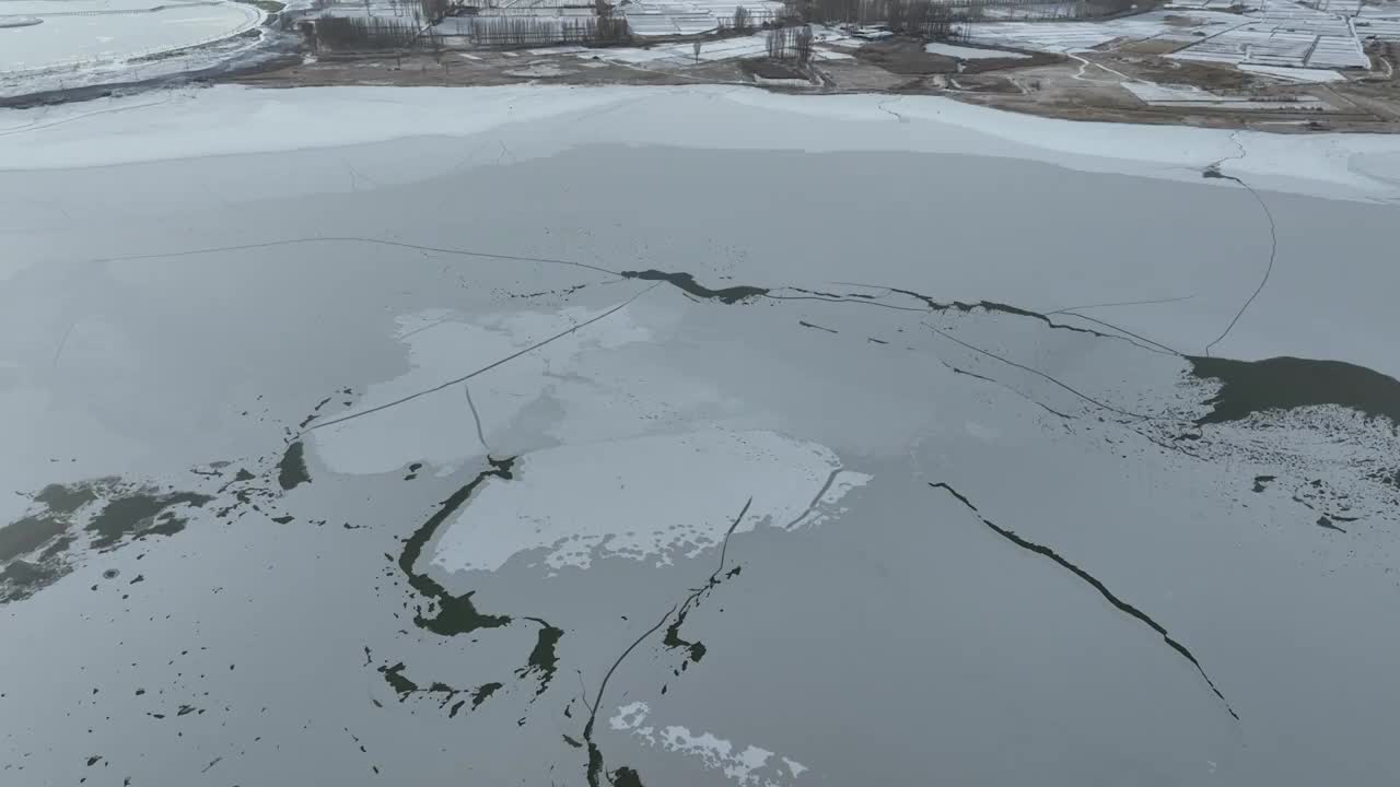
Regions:
[[[132, 108], [147, 104], [140, 109]], [[602, 111], [608, 112], [603, 113]], [[1365, 161], [1400, 153], [1387, 134], [1278, 136], [1079, 123], [939, 97], [781, 95], [734, 87], [298, 88], [220, 85], [11, 113], [0, 169], [323, 148], [510, 129], [517, 157], [603, 141], [729, 150], [911, 150], [1046, 161], [1091, 172], [1198, 181], [1211, 162], [1273, 190], [1400, 196]], [[567, 119], [567, 123], [538, 123]], [[820, 123], [811, 122], [820, 119]], [[28, 123], [25, 122], [28, 120]], [[559, 129], [568, 129], [560, 134]], [[94, 144], [101, 141], [101, 144]]]

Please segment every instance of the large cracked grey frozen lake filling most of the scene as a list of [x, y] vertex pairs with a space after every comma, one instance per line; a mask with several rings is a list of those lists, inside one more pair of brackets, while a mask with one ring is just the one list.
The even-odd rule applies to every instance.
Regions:
[[1239, 134], [1252, 192], [1228, 133], [721, 88], [0, 134], [7, 784], [1400, 779], [1400, 143]]

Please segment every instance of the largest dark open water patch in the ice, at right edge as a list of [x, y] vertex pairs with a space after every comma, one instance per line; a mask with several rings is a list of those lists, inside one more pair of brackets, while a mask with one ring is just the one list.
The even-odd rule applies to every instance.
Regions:
[[1278, 357], [1236, 361], [1187, 356], [1191, 374], [1218, 379], [1219, 392], [1205, 403], [1211, 412], [1197, 424], [1226, 423], [1268, 410], [1316, 405], [1350, 408], [1400, 424], [1400, 381], [1345, 361]]

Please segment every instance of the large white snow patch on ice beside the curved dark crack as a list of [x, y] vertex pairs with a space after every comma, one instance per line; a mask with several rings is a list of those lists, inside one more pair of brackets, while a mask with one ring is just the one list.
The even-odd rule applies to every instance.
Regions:
[[[678, 553], [694, 557], [718, 546], [750, 497], [734, 532], [801, 520], [837, 469], [826, 447], [773, 431], [547, 448], [522, 457], [512, 480], [487, 480], [448, 525], [433, 563], [494, 571], [514, 555], [547, 549], [542, 562], [552, 573], [587, 569], [605, 555], [669, 564]], [[833, 483], [816, 506], [830, 506], [855, 480]]]

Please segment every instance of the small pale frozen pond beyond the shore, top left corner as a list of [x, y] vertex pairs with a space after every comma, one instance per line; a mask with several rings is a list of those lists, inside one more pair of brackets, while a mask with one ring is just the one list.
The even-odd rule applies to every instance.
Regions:
[[262, 13], [223, 0], [0, 0], [0, 74], [87, 67], [210, 43], [253, 29]]

